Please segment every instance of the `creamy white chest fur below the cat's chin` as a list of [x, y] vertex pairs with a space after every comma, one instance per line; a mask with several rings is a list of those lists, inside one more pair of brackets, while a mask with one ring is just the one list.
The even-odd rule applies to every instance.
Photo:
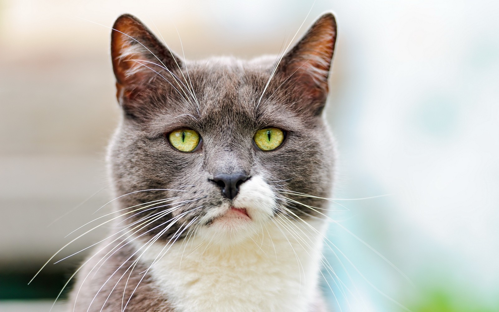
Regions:
[[[306, 312], [317, 291], [322, 237], [286, 223], [267, 224], [230, 248], [201, 238], [175, 243], [148, 274], [182, 312]], [[308, 223], [321, 231], [320, 221]], [[141, 259], [153, 263], [165, 250], [155, 243]]]

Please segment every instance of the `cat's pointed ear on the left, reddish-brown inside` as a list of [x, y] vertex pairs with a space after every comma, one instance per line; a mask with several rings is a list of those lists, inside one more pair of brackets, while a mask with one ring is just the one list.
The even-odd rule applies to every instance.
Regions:
[[116, 97], [127, 103], [147, 90], [153, 79], [170, 77], [181, 68], [181, 60], [165, 47], [135, 16], [123, 14], [111, 32], [111, 58], [116, 76]]

